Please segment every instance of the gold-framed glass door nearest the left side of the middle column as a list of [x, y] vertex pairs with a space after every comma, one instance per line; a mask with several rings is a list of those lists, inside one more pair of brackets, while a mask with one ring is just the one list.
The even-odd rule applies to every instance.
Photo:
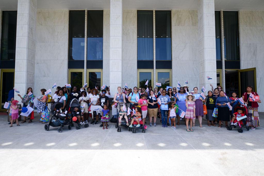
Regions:
[[[103, 69], [87, 69], [87, 86], [91, 89], [98, 86], [98, 90], [101, 90], [103, 83]], [[109, 85], [107, 85], [109, 86]]]

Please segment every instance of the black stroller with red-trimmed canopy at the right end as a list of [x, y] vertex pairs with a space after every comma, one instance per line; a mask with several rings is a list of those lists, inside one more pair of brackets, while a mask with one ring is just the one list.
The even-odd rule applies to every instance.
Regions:
[[237, 112], [237, 109], [242, 109], [243, 113], [245, 115], [245, 118], [242, 119], [242, 124], [240, 123], [240, 126], [239, 126], [240, 120], [238, 121], [238, 125], [231, 125], [231, 123], [230, 123], [230, 125], [227, 126], [227, 130], [232, 130], [232, 127], [234, 127], [234, 128], [238, 127], [237, 131], [239, 133], [243, 133], [242, 127], [245, 127], [247, 129], [247, 131], [249, 131], [250, 127], [248, 126], [248, 123], [246, 121], [247, 107], [244, 104], [236, 104], [233, 108], [234, 108], [234, 112]]

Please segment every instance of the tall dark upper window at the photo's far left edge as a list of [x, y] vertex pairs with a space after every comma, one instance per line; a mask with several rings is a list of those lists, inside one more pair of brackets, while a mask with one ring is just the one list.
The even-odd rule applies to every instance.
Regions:
[[15, 60], [17, 11], [3, 11], [1, 60]]

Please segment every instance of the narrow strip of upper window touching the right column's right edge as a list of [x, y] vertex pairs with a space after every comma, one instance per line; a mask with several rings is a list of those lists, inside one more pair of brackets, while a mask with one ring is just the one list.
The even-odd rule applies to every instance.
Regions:
[[220, 11], [215, 11], [215, 44], [216, 44], [216, 60], [221, 60], [221, 22]]

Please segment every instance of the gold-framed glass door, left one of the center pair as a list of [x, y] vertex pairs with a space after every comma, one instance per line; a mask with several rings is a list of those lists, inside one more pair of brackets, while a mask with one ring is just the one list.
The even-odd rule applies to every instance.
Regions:
[[153, 69], [138, 69], [138, 87], [147, 88], [145, 85], [147, 80], [149, 80], [148, 87], [150, 85], [153, 87]]

